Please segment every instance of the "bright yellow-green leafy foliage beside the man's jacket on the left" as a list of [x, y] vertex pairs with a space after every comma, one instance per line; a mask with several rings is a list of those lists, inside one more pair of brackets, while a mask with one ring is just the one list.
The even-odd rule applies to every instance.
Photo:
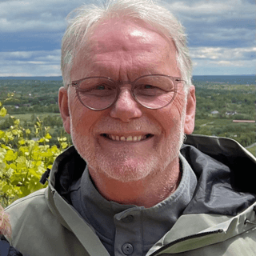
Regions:
[[[0, 102], [0, 116], [6, 116], [6, 108]], [[58, 138], [59, 146], [50, 146], [50, 127], [42, 126], [37, 118], [34, 131], [21, 126], [19, 119], [9, 117], [11, 126], [0, 130], [0, 203], [8, 206], [17, 198], [22, 198], [45, 186], [39, 182], [54, 159], [69, 143], [66, 137]], [[35, 138], [30, 138], [34, 132]]]

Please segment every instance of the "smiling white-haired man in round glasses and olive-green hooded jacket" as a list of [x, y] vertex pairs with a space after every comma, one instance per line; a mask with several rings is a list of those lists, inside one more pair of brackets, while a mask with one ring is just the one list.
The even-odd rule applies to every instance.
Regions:
[[46, 190], [8, 207], [13, 246], [31, 256], [255, 254], [255, 158], [232, 140], [188, 135], [191, 62], [167, 10], [82, 7], [62, 41], [62, 74], [74, 146]]

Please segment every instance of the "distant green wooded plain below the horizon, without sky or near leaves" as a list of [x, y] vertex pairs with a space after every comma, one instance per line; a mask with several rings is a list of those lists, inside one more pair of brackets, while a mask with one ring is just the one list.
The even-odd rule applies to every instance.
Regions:
[[[250, 146], [247, 149], [256, 156], [255, 76], [194, 76], [193, 83], [197, 98], [194, 134], [232, 138]], [[29, 138], [35, 138], [34, 125], [39, 118], [43, 126], [50, 126], [50, 145], [58, 144], [63, 135], [71, 143], [58, 110], [60, 86], [62, 77], [2, 78], [0, 102], [10, 115], [0, 119], [0, 130], [13, 125], [13, 115], [32, 131]], [[10, 99], [5, 102], [6, 98]]]

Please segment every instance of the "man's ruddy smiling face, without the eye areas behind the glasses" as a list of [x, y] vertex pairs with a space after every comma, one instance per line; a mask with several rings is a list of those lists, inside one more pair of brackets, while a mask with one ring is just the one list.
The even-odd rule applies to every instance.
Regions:
[[[174, 43], [138, 23], [112, 19], [97, 26], [78, 52], [71, 80], [102, 76], [134, 81], [146, 74], [181, 76]], [[66, 96], [61, 93], [64, 126], [89, 170], [121, 182], [166, 170], [178, 158], [184, 130], [186, 134], [193, 130], [187, 128], [190, 123], [188, 126], [186, 120], [193, 119], [194, 127], [194, 116], [186, 118], [186, 95], [179, 85], [174, 101], [159, 110], [135, 102], [130, 85], [122, 85], [114, 106], [101, 111], [82, 106], [72, 86]], [[130, 142], [134, 137], [137, 142]], [[122, 141], [124, 138], [128, 141]]]

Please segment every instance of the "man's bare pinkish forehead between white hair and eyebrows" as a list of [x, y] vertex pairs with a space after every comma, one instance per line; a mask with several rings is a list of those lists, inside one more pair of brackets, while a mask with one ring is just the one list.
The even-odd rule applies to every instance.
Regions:
[[174, 42], [144, 22], [112, 18], [94, 25], [91, 31], [74, 58], [76, 70], [84, 68], [94, 74], [95, 70], [117, 67], [150, 70], [163, 62], [176, 66]]

